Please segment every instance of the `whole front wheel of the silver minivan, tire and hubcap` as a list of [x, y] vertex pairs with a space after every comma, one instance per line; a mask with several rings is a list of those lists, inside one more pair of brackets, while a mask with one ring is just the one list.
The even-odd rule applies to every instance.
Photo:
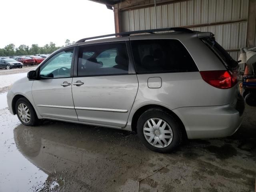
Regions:
[[[22, 108], [24, 110], [21, 110]], [[26, 98], [22, 97], [17, 100], [15, 104], [15, 110], [22, 124], [26, 126], [35, 126], [38, 124], [39, 120], [37, 118], [36, 112], [33, 106], [30, 104], [30, 102]], [[23, 116], [22, 116], [22, 112], [24, 114]], [[30, 115], [30, 119], [28, 120], [29, 115]]]

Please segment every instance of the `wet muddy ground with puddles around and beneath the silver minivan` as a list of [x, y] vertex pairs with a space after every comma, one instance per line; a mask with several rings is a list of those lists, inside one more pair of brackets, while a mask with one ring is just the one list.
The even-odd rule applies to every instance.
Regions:
[[[8, 83], [3, 87], [7, 90]], [[145, 148], [136, 134], [122, 130], [57, 121], [23, 126], [9, 113], [4, 92], [0, 93], [0, 192], [255, 189], [255, 107], [246, 106], [244, 122], [231, 137], [188, 140], [175, 152], [160, 154]]]

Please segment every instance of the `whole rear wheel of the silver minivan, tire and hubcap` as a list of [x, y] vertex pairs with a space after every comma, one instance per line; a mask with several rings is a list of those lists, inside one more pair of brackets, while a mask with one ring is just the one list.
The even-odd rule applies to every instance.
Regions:
[[[155, 122], [155, 126], [152, 120]], [[160, 122], [160, 120], [162, 120], [162, 122]], [[148, 121], [151, 124], [151, 128], [148, 124]], [[160, 122], [159, 129], [157, 126], [158, 122]], [[164, 122], [166, 123], [165, 128]], [[146, 130], [144, 130], [144, 128], [146, 128]], [[152, 128], [154, 129], [153, 131]], [[156, 152], [172, 152], [182, 142], [181, 125], [175, 120], [175, 118], [171, 114], [159, 108], [148, 109], [140, 116], [137, 122], [137, 133], [144, 146]], [[164, 135], [164, 139], [162, 138], [162, 135]], [[153, 146], [156, 137], [158, 137], [157, 143]], [[160, 144], [159, 141], [162, 144]]]

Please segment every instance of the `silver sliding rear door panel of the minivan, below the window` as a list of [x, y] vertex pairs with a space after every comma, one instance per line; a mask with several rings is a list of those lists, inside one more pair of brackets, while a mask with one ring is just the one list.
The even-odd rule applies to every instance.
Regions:
[[[74, 85], [81, 81], [84, 84]], [[124, 127], [138, 90], [136, 74], [74, 77], [72, 93], [81, 122]]]

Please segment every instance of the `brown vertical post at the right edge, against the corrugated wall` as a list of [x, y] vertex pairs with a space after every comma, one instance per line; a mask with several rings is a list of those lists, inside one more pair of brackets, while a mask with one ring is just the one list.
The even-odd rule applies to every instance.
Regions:
[[252, 48], [255, 45], [256, 31], [256, 0], [249, 0], [248, 24], [247, 24], [247, 46]]

